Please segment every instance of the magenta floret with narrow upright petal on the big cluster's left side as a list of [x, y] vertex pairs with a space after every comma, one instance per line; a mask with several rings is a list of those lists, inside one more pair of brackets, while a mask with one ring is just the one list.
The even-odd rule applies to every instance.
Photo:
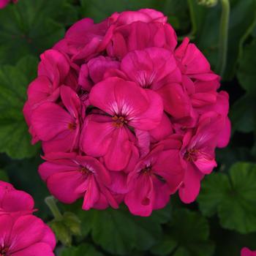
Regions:
[[45, 102], [31, 116], [31, 125], [45, 152], [72, 151], [78, 146], [80, 99], [67, 86], [61, 86], [60, 94], [66, 110], [56, 103]]

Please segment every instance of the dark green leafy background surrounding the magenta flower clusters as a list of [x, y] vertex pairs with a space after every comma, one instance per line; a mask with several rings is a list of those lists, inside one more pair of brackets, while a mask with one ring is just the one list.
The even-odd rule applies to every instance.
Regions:
[[227, 66], [222, 89], [230, 94], [232, 138], [217, 151], [219, 167], [202, 182], [197, 202], [173, 196], [151, 217], [118, 210], [82, 211], [58, 203], [62, 217], [44, 203], [49, 195], [37, 175], [40, 146], [31, 146], [23, 120], [26, 88], [37, 75], [39, 54], [83, 17], [96, 22], [116, 11], [154, 8], [168, 16], [179, 39], [189, 35], [216, 68], [221, 5], [196, 0], [19, 0], [0, 10], [0, 179], [29, 192], [37, 215], [53, 227], [56, 255], [238, 256], [256, 250], [256, 0], [230, 0]]

